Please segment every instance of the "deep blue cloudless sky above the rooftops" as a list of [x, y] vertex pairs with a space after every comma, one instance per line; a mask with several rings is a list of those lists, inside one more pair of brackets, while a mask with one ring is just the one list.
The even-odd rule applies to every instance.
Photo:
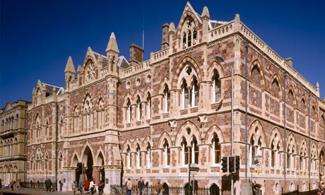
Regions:
[[[0, 0], [0, 108], [6, 102], [31, 100], [37, 80], [64, 86], [69, 56], [77, 68], [88, 47], [105, 54], [110, 33], [120, 55], [129, 59], [129, 45], [142, 45], [145, 59], [157, 52], [164, 23], [179, 23], [187, 1]], [[325, 96], [325, 1], [190, 1], [197, 13], [208, 6], [213, 20], [242, 22], [307, 81], [319, 82]], [[143, 19], [144, 18], [144, 19]]]

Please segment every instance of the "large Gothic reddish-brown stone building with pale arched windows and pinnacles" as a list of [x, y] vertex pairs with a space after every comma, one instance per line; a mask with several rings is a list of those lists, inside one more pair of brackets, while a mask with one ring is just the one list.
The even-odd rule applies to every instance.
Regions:
[[[325, 165], [319, 85], [238, 14], [221, 22], [187, 3], [177, 26], [162, 25], [161, 49], [150, 59], [137, 45], [129, 61], [119, 56], [114, 33], [105, 52], [88, 47], [77, 71], [69, 57], [64, 88], [37, 83], [28, 107], [30, 181], [50, 177], [64, 191], [83, 178], [105, 182], [105, 192], [128, 177], [187, 187], [193, 163], [199, 186], [221, 194], [230, 191], [221, 158], [239, 155], [236, 194], [248, 179], [269, 194], [318, 187]], [[258, 156], [261, 169], [252, 172]]]

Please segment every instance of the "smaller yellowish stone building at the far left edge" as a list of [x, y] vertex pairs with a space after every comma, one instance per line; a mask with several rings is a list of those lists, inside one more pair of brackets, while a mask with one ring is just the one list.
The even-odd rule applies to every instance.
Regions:
[[8, 102], [0, 110], [0, 178], [1, 184], [25, 182], [27, 109], [30, 102]]

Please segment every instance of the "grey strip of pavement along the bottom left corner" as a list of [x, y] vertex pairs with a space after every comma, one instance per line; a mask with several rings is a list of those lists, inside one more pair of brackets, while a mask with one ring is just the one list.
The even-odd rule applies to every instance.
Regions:
[[[11, 191], [11, 189], [0, 189], [0, 194], [25, 194], [25, 195], [72, 195], [72, 191], [62, 192], [62, 191], [46, 191], [43, 189], [29, 189], [29, 188], [20, 188]], [[81, 193], [77, 191], [76, 195]]]

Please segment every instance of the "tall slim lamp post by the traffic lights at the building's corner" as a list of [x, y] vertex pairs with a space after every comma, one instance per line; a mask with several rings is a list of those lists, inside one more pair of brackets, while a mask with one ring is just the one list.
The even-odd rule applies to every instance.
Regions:
[[[215, 59], [218, 61], [218, 62], [223, 62], [225, 63], [226, 65], [228, 65], [225, 60], [223, 59], [223, 57], [217, 55], [215, 57]], [[234, 69], [232, 66], [230, 66], [231, 68], [231, 126], [230, 126], [230, 131], [231, 131], [231, 140], [230, 140], [230, 155], [232, 156], [233, 155], [233, 151], [232, 151], [232, 144], [233, 144], [233, 126], [234, 126], [234, 93], [233, 93], [233, 89], [234, 89]], [[232, 180], [232, 173], [231, 174], [231, 194], [234, 194], [234, 181]]]

